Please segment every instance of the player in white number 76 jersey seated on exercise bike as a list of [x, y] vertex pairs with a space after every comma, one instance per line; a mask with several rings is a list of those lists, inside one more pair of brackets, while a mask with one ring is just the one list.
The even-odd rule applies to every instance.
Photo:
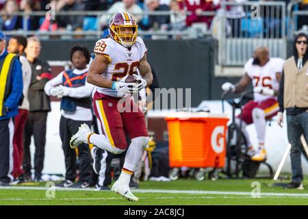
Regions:
[[[242, 109], [242, 116], [235, 118], [235, 123], [240, 127], [242, 118], [242, 131], [247, 140], [248, 155], [257, 162], [267, 158], [264, 148], [266, 120], [275, 116], [279, 111], [277, 95], [279, 81], [283, 70], [283, 60], [278, 57], [270, 57], [266, 47], [259, 47], [253, 53], [253, 58], [244, 65], [245, 74], [234, 85], [226, 82], [222, 84], [222, 90], [232, 93], [242, 92], [253, 82], [254, 99], [246, 103]], [[253, 148], [246, 131], [246, 125], [255, 124], [259, 147]]]

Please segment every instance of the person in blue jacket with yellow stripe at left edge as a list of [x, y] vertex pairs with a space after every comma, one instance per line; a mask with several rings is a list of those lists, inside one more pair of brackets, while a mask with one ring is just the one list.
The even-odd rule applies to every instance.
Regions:
[[13, 179], [13, 120], [23, 94], [21, 62], [5, 46], [5, 35], [0, 32], [0, 186], [10, 185]]

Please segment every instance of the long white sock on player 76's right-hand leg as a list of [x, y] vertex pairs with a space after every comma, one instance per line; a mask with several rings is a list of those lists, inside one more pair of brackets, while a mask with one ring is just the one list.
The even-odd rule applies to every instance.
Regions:
[[264, 110], [260, 108], [253, 109], [253, 123], [255, 124], [255, 129], [257, 131], [259, 144], [264, 144], [266, 133], [266, 116]]

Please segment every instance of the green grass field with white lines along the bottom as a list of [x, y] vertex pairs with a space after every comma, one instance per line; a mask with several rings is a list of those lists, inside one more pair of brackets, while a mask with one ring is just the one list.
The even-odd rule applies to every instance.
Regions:
[[27, 183], [0, 187], [0, 205], [308, 205], [307, 179], [305, 190], [285, 190], [272, 183], [270, 179], [145, 181], [132, 190], [139, 198], [136, 203], [111, 191], [47, 190], [45, 183]]

